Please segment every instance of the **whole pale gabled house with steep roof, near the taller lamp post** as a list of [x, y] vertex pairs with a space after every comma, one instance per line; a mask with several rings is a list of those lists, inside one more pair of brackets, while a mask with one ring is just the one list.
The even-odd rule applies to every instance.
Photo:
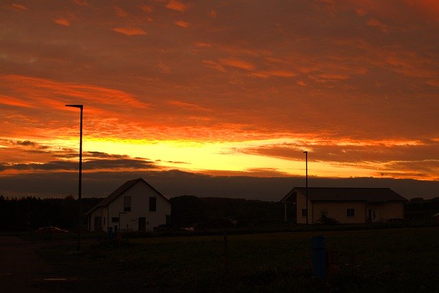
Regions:
[[89, 231], [144, 231], [168, 224], [171, 202], [142, 178], [129, 180], [88, 215]]

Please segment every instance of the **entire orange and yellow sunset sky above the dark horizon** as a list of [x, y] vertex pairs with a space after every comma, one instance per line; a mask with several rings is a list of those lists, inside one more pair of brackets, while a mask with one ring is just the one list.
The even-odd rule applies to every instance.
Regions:
[[1, 1], [1, 182], [75, 180], [84, 104], [84, 180], [298, 177], [306, 150], [437, 183], [438, 36], [436, 0]]

